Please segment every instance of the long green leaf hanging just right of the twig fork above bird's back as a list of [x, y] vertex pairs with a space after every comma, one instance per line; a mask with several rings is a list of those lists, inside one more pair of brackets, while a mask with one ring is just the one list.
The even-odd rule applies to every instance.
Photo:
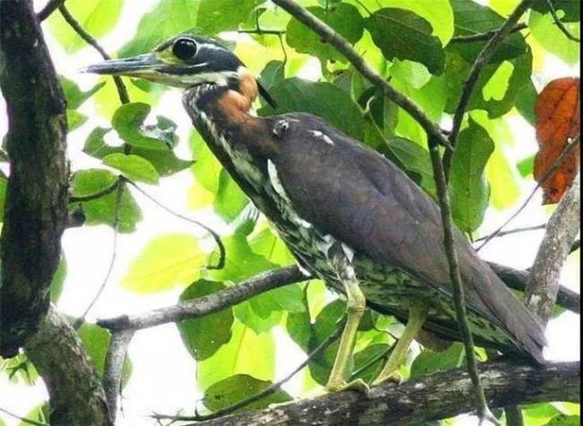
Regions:
[[494, 152], [486, 130], [470, 118], [459, 135], [451, 167], [451, 209], [457, 226], [466, 232], [476, 230], [488, 208], [490, 187], [484, 169]]

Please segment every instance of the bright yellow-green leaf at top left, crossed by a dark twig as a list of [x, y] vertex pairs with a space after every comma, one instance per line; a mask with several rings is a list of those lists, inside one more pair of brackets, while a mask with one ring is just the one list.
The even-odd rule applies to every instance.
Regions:
[[[117, 23], [123, 0], [69, 0], [66, 7], [95, 39], [106, 35]], [[61, 13], [52, 13], [48, 17], [48, 28], [67, 53], [74, 53], [87, 43], [65, 22]]]

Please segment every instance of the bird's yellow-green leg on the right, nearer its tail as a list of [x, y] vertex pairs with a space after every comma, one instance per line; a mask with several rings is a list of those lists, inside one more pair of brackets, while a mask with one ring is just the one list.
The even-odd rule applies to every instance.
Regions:
[[411, 342], [425, 323], [426, 317], [426, 309], [417, 306], [409, 308], [409, 319], [407, 320], [405, 331], [396, 343], [393, 352], [391, 352], [391, 356], [388, 358], [385, 368], [380, 372], [379, 377], [372, 383], [373, 386], [379, 385], [387, 380], [395, 380], [397, 382], [401, 381], [398, 370], [405, 359]]

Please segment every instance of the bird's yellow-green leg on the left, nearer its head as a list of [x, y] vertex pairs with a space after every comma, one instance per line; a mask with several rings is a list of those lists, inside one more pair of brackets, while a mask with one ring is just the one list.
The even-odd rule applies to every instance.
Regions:
[[344, 389], [368, 392], [369, 387], [360, 378], [350, 383], [348, 382], [348, 378], [350, 378], [352, 372], [352, 351], [356, 343], [358, 326], [364, 314], [366, 300], [358, 285], [358, 280], [356, 279], [356, 274], [354, 274], [354, 268], [350, 260], [344, 254], [343, 250], [339, 249], [335, 251], [335, 255], [332, 256], [332, 262], [335, 265], [338, 278], [344, 285], [344, 291], [346, 292], [346, 325], [344, 326], [338, 352], [336, 352], [334, 366], [332, 367], [332, 372], [330, 373], [326, 387], [328, 390], [334, 392]]

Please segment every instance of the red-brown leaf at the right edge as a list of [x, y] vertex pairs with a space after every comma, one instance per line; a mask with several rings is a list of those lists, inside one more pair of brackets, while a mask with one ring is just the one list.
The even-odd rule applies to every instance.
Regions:
[[548, 83], [536, 100], [536, 140], [539, 151], [535, 157], [535, 179], [544, 189], [543, 204], [555, 204], [573, 183], [579, 171], [579, 146], [562, 162], [553, 174], [544, 178], [565, 146], [580, 131], [579, 78], [560, 78]]

